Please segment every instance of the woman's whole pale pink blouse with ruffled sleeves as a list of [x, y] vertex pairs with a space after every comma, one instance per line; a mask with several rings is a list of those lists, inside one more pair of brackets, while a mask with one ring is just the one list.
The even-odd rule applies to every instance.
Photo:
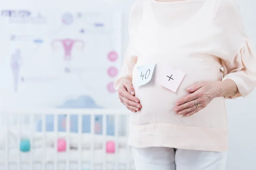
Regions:
[[[201, 81], [232, 79], [247, 96], [256, 85], [256, 56], [244, 32], [235, 0], [184, 0], [160, 3], [137, 0], [131, 8], [130, 43], [120, 77], [133, 78], [143, 108], [131, 113], [128, 144], [134, 147], [174, 147], [226, 151], [228, 123], [224, 97], [212, 100], [190, 117], [174, 108]], [[150, 83], [138, 87], [137, 67], [156, 63]], [[164, 65], [185, 73], [176, 92], [157, 83]]]

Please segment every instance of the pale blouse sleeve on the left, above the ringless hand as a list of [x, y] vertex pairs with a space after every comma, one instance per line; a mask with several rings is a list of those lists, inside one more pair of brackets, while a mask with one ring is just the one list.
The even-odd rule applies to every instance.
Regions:
[[137, 0], [134, 5], [131, 7], [130, 17], [129, 17], [129, 37], [130, 42], [128, 48], [125, 53], [124, 62], [122, 64], [122, 68], [119, 74], [119, 77], [116, 79], [114, 83], [114, 88], [117, 90], [119, 88], [120, 82], [125, 77], [131, 77], [134, 69], [134, 65], [137, 63], [137, 55], [135, 54], [135, 50], [133, 47], [133, 35], [137, 30], [141, 19], [142, 19], [142, 5], [140, 0]]

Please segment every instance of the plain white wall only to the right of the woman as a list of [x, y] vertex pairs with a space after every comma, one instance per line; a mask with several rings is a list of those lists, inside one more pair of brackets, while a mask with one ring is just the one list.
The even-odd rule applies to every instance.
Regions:
[[[238, 2], [247, 34], [256, 45], [256, 1], [238, 0]], [[254, 49], [256, 49], [255, 45]], [[255, 100], [256, 91], [247, 99], [227, 101], [230, 130], [227, 170], [256, 170]]]

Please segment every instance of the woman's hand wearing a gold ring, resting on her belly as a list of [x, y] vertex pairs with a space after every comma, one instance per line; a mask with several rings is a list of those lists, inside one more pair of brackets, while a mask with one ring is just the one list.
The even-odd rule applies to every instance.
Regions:
[[187, 88], [191, 94], [177, 101], [175, 111], [180, 115], [192, 116], [205, 108], [221, 94], [221, 81], [199, 82]]

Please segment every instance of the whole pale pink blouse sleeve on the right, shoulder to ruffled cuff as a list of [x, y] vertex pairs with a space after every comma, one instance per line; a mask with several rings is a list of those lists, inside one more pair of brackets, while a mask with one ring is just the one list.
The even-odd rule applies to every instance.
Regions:
[[[241, 18], [239, 6], [236, 0], [221, 0], [222, 10], [219, 18], [222, 19], [222, 54], [223, 79], [232, 79], [239, 90], [234, 96], [246, 97], [256, 86], [256, 54], [253, 43], [245, 33], [244, 23]], [[225, 4], [224, 4], [225, 2]], [[220, 16], [221, 15], [221, 16]]]

